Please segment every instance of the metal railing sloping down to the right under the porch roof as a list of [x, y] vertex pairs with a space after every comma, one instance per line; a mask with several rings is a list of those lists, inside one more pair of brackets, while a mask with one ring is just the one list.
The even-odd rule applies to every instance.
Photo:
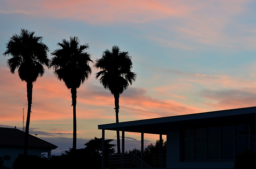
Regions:
[[109, 167], [120, 168], [151, 168], [134, 154], [108, 155]]

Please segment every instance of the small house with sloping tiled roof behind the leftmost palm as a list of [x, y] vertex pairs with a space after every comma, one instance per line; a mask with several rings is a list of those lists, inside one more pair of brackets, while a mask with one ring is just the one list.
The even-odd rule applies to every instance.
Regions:
[[[25, 132], [17, 128], [0, 127], [0, 157], [4, 157], [6, 167], [11, 168], [16, 157], [23, 154], [24, 140]], [[51, 150], [57, 147], [31, 134], [28, 135], [28, 154], [41, 157], [42, 153], [47, 153], [49, 159]]]

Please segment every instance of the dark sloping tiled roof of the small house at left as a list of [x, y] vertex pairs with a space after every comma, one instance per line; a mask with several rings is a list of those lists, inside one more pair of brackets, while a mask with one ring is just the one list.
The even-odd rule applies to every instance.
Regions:
[[[0, 127], [0, 147], [24, 147], [25, 132], [17, 128]], [[28, 134], [28, 148], [55, 149], [45, 140]]]

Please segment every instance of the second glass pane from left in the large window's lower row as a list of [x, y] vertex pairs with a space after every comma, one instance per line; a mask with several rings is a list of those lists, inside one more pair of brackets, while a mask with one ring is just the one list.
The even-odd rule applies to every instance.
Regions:
[[206, 160], [206, 140], [195, 140], [195, 160]]

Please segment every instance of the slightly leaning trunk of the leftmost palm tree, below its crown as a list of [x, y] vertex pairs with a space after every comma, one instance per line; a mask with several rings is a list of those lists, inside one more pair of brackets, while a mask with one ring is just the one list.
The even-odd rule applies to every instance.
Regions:
[[30, 114], [31, 114], [31, 105], [32, 105], [32, 89], [33, 82], [27, 82], [27, 99], [28, 99], [28, 112], [27, 112], [27, 121], [26, 121], [26, 130], [25, 130], [25, 140], [24, 140], [24, 161], [23, 168], [27, 168], [27, 156], [28, 156], [28, 133], [29, 133], [29, 123], [30, 123]]

